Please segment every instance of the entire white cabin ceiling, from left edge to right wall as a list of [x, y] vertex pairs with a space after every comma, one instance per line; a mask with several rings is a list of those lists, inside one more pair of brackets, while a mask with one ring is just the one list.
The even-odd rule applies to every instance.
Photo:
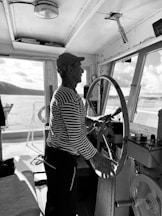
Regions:
[[[162, 8], [161, 0], [55, 0], [58, 17], [41, 19], [34, 14], [33, 3], [0, 1], [0, 43], [12, 44], [15, 49], [95, 54], [121, 37], [117, 22], [105, 19], [110, 13], [122, 14], [120, 23], [127, 33]], [[22, 42], [22, 38], [27, 41]]]

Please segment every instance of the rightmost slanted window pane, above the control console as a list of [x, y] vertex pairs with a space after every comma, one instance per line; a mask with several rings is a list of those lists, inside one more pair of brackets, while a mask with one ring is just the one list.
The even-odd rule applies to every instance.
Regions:
[[162, 109], [162, 51], [146, 57], [134, 122], [157, 128]]

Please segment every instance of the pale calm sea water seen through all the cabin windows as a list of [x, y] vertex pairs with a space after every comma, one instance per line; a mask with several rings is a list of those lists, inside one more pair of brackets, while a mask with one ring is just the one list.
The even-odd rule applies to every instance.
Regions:
[[[38, 117], [39, 110], [44, 106], [44, 96], [34, 95], [1, 95], [3, 106], [13, 103], [13, 107], [6, 121], [5, 131], [21, 131], [33, 129], [43, 129], [42, 123]], [[117, 99], [109, 99], [105, 114], [112, 114], [119, 106]], [[158, 111], [162, 108], [162, 100], [140, 99], [135, 113], [135, 123], [157, 127]], [[45, 112], [42, 112], [45, 118]]]

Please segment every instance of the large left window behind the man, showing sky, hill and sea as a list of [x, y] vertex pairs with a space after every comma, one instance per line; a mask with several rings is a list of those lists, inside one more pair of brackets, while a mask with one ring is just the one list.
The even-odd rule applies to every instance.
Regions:
[[1, 58], [0, 92], [6, 115], [3, 133], [43, 128], [38, 118], [44, 106], [43, 62]]

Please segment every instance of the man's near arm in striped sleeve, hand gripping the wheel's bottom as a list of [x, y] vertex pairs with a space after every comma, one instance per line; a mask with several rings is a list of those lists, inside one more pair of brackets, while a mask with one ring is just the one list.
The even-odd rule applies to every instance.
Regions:
[[[69, 110], [71, 110], [71, 115], [69, 115]], [[114, 173], [112, 161], [98, 152], [87, 138], [85, 131], [81, 130], [79, 113], [74, 104], [64, 105], [62, 107], [62, 114], [69, 135], [69, 141], [73, 148], [77, 149], [86, 160], [90, 161], [94, 170], [100, 171], [108, 178], [111, 173]], [[86, 118], [86, 121], [89, 124], [93, 124], [96, 120]]]

